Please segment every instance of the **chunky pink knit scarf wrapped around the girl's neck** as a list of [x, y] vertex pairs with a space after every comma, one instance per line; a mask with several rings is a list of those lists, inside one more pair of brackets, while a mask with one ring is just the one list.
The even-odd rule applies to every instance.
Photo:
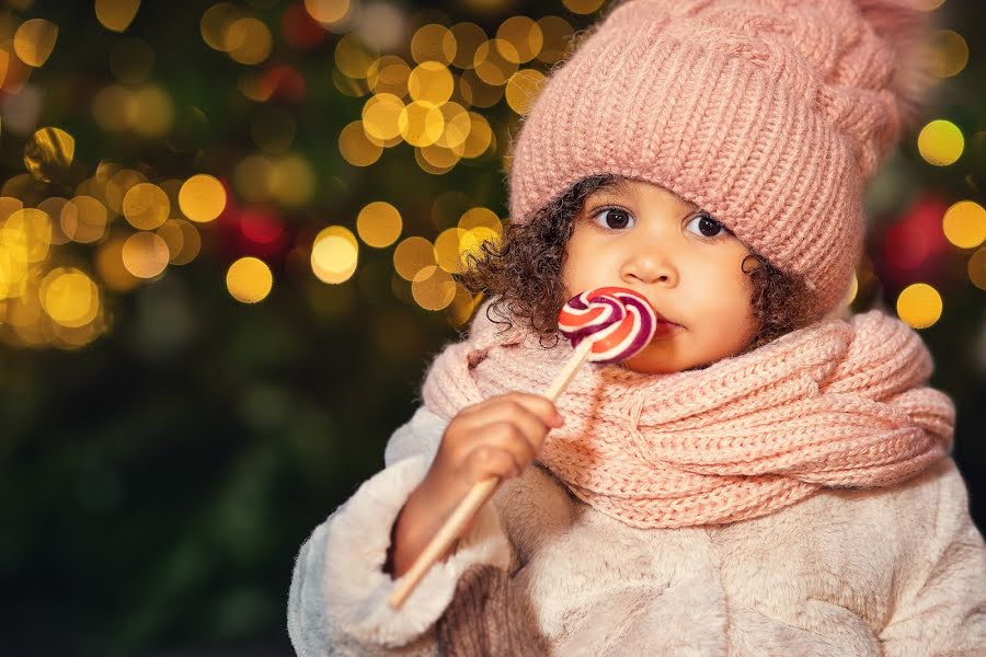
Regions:
[[[425, 404], [451, 418], [494, 394], [543, 393], [572, 349], [503, 331], [481, 308], [435, 359]], [[954, 407], [924, 383], [921, 338], [879, 311], [827, 320], [704, 369], [585, 365], [540, 461], [580, 499], [638, 528], [724, 523], [822, 487], [891, 486], [949, 452]]]

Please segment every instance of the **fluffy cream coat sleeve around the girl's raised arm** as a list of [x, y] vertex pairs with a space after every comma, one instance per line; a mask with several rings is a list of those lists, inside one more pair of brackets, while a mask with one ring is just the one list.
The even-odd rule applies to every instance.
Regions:
[[295, 562], [288, 593], [288, 634], [301, 657], [316, 655], [433, 655], [435, 621], [460, 575], [473, 564], [507, 568], [511, 544], [493, 505], [485, 505], [455, 554], [436, 564], [400, 610], [387, 598], [394, 580], [383, 572], [390, 531], [426, 474], [445, 422], [426, 408], [391, 436], [386, 468], [319, 525]]

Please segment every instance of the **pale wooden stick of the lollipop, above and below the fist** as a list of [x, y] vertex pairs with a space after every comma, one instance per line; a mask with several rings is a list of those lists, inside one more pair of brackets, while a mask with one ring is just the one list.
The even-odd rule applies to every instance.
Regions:
[[[583, 339], [578, 343], [564, 367], [554, 377], [554, 381], [548, 388], [544, 396], [551, 400], [552, 403], [557, 402], [592, 350], [593, 342], [591, 339]], [[421, 581], [421, 578], [425, 576], [438, 557], [448, 550], [449, 545], [452, 544], [452, 541], [456, 540], [456, 537], [466, 527], [466, 523], [475, 516], [480, 507], [493, 495], [497, 484], [500, 484], [500, 477], [497, 476], [491, 476], [473, 484], [466, 497], [462, 498], [462, 502], [459, 503], [459, 506], [456, 507], [456, 510], [451, 512], [445, 525], [442, 526], [442, 529], [438, 530], [422, 553], [417, 555], [411, 568], [401, 577], [401, 580], [388, 599], [390, 607], [400, 609], [404, 604], [404, 600], [408, 599], [408, 596], [411, 595], [417, 583]]]

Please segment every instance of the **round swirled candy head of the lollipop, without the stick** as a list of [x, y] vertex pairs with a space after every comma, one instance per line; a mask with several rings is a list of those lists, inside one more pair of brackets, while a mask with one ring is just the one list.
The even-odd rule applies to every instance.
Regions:
[[631, 289], [601, 287], [569, 299], [558, 315], [558, 327], [578, 346], [593, 343], [594, 362], [626, 360], [643, 349], [657, 330], [657, 314], [646, 298]]

